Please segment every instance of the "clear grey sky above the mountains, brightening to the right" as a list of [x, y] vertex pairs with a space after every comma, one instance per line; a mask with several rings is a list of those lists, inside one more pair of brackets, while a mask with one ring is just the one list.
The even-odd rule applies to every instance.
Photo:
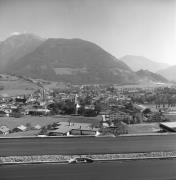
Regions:
[[0, 0], [0, 41], [18, 32], [176, 64], [176, 0]]

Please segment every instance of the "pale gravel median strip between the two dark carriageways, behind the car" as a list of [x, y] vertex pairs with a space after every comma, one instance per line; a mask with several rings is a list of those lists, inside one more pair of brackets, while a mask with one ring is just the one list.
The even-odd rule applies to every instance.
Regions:
[[95, 161], [114, 160], [141, 160], [141, 159], [168, 159], [176, 158], [174, 152], [149, 152], [149, 153], [128, 153], [128, 154], [96, 154], [96, 155], [40, 155], [40, 156], [8, 156], [0, 157], [0, 164], [30, 164], [30, 163], [67, 163], [75, 157], [89, 157]]

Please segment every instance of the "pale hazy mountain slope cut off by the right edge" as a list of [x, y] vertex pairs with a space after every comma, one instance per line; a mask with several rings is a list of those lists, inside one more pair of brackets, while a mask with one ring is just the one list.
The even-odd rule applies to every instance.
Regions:
[[157, 73], [161, 74], [170, 81], [176, 81], [176, 65], [160, 70]]

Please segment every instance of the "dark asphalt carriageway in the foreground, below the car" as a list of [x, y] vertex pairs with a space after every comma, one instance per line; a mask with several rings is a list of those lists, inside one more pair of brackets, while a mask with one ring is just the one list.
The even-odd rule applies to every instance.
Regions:
[[175, 180], [176, 160], [0, 167], [0, 180]]

